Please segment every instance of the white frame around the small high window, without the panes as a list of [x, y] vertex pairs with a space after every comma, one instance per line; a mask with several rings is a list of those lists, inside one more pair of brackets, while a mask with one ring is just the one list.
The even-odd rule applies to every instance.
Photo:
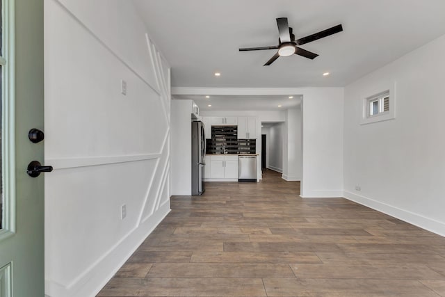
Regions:
[[[380, 89], [382, 90], [382, 89]], [[384, 111], [384, 98], [389, 96], [389, 111]], [[378, 101], [378, 113], [371, 115], [371, 102]], [[389, 88], [362, 99], [362, 116], [360, 125], [382, 122], [396, 118], [396, 83]]]

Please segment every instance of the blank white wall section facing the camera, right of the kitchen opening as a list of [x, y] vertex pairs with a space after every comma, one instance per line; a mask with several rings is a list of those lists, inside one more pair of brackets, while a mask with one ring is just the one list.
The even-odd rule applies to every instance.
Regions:
[[301, 196], [343, 196], [343, 88], [308, 88], [302, 100]]

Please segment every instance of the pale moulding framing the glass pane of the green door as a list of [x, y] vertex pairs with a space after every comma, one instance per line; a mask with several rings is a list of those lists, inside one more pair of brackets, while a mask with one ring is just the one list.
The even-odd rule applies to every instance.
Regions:
[[[2, 66], [3, 117], [1, 123], [1, 174], [3, 176], [3, 229], [0, 241], [15, 233], [15, 2], [3, 0], [3, 57]], [[5, 181], [8, 184], [5, 184]]]

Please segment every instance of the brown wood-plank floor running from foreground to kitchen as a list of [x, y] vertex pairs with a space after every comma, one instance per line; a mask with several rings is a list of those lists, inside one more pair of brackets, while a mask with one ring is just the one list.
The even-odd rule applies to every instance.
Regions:
[[445, 296], [445, 238], [343, 198], [207, 183], [172, 211], [98, 296]]

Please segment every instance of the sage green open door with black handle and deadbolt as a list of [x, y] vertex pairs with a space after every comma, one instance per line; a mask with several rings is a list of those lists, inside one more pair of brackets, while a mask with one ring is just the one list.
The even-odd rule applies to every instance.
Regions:
[[43, 0], [1, 1], [0, 297], [44, 296]]

